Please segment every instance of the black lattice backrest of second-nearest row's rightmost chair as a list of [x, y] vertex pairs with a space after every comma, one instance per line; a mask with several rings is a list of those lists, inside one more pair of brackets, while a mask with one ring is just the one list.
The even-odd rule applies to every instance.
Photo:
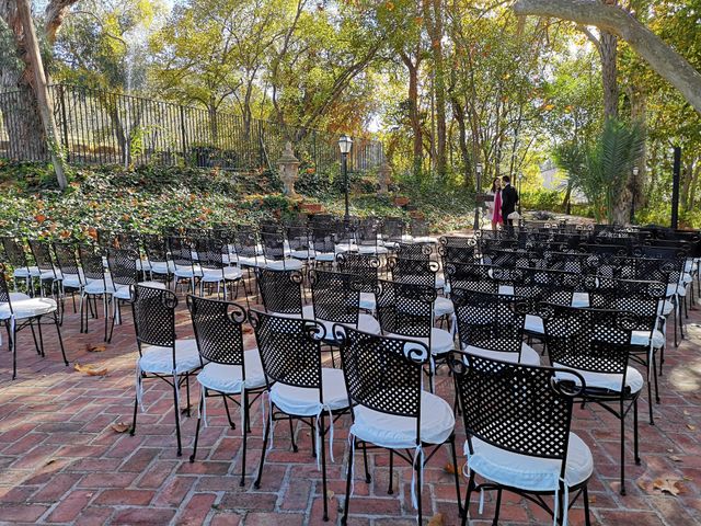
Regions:
[[636, 327], [633, 313], [553, 304], [541, 304], [539, 313], [551, 364], [621, 375], [621, 386], [625, 385], [631, 334]]

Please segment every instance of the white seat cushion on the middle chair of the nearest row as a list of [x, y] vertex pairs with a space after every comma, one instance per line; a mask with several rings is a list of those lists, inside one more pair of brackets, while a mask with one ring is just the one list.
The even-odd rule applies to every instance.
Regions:
[[[348, 407], [346, 382], [341, 369], [321, 369], [324, 405], [332, 411]], [[271, 388], [271, 401], [283, 412], [297, 416], [315, 416], [321, 409], [319, 389], [292, 387], [276, 382]]]

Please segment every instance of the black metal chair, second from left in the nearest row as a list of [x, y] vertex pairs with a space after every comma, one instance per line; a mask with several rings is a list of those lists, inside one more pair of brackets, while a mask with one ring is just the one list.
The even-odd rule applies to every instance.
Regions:
[[[229, 412], [228, 401], [231, 401], [241, 408], [243, 455], [239, 485], [243, 485], [251, 405], [261, 398], [266, 388], [261, 355], [255, 348], [250, 351], [244, 348], [242, 327], [248, 316], [239, 305], [232, 301], [205, 299], [188, 295], [187, 308], [192, 316], [202, 365], [202, 370], [197, 375], [197, 382], [202, 391], [199, 413], [195, 445], [189, 461], [194, 462], [197, 455], [199, 426], [203, 420], [207, 426], [207, 398], [221, 397], [229, 424], [231, 428], [235, 428]], [[234, 397], [239, 397], [239, 399], [237, 400]]]

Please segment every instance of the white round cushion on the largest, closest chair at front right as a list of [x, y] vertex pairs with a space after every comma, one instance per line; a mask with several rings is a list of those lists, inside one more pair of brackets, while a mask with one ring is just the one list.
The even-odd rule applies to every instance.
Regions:
[[[509, 425], [505, 422], [504, 425]], [[545, 433], [545, 430], [543, 430]], [[560, 479], [562, 462], [552, 458], [531, 457], [507, 451], [472, 438], [474, 453], [468, 467], [485, 479], [527, 491], [554, 491]], [[466, 455], [469, 453], [464, 444]], [[574, 433], [570, 433], [565, 482], [570, 488], [586, 481], [594, 472], [594, 458], [589, 447]]]

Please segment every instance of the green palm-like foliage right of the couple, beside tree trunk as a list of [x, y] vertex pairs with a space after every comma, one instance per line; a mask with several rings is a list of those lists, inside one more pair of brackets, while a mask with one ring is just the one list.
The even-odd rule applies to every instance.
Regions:
[[558, 165], [567, 171], [572, 186], [586, 195], [597, 221], [614, 222], [614, 206], [644, 141], [639, 123], [628, 125], [611, 118], [594, 144], [570, 141], [555, 148]]

